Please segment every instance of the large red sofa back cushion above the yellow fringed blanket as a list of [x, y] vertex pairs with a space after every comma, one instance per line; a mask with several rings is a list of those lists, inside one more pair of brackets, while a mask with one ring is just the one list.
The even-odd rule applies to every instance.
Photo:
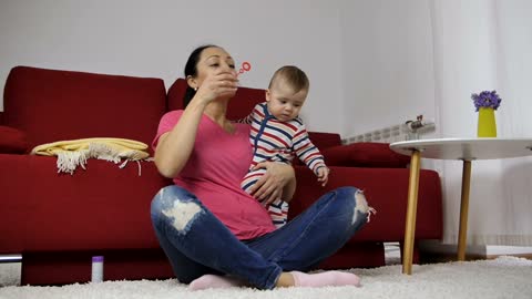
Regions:
[[17, 66], [4, 90], [4, 125], [30, 146], [121, 137], [149, 144], [166, 110], [161, 79]]

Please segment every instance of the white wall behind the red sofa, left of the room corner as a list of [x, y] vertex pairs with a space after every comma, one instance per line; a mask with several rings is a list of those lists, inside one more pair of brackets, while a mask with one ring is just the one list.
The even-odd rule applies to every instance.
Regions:
[[252, 63], [245, 86], [300, 66], [311, 81], [308, 127], [342, 133], [339, 25], [336, 1], [2, 0], [0, 87], [16, 65], [162, 78], [168, 87], [194, 48], [215, 43]]

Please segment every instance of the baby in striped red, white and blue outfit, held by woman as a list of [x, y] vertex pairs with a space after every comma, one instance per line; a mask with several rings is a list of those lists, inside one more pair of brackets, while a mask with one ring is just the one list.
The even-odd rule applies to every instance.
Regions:
[[[309, 81], [305, 72], [293, 65], [283, 66], [269, 82], [266, 102], [257, 104], [252, 114], [241, 121], [252, 125], [249, 141], [254, 151], [249, 172], [241, 184], [245, 192], [249, 193], [250, 187], [266, 172], [264, 168], [255, 169], [258, 163], [268, 161], [290, 164], [295, 155], [316, 174], [323, 186], [327, 184], [329, 168], [298, 117], [308, 89]], [[266, 206], [277, 228], [287, 223], [290, 199], [283, 195], [282, 199]]]

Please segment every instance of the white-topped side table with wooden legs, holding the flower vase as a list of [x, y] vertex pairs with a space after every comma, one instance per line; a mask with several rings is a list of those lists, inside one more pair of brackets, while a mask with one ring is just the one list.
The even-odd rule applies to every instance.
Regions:
[[471, 161], [499, 159], [532, 155], [532, 138], [418, 140], [396, 142], [390, 144], [390, 148], [400, 154], [411, 155], [407, 220], [405, 227], [405, 248], [402, 257], [402, 272], [411, 275], [421, 156], [424, 158], [463, 161], [460, 228], [458, 234], [458, 260], [464, 260], [468, 233]]

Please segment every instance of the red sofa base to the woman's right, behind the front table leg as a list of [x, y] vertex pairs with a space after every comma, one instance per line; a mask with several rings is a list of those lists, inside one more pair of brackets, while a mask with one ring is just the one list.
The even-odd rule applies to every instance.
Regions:
[[[369, 168], [329, 166], [329, 182], [318, 184], [316, 175], [306, 166], [296, 166], [298, 183], [290, 202], [288, 219], [293, 219], [314, 200], [338, 187], [354, 186], [366, 195], [368, 205], [377, 210], [370, 223], [365, 225], [350, 240], [402, 241], [408, 203], [408, 168]], [[305, 182], [301, 186], [299, 183]], [[416, 239], [439, 239], [443, 231], [441, 184], [437, 172], [421, 169], [419, 173], [418, 214]]]

